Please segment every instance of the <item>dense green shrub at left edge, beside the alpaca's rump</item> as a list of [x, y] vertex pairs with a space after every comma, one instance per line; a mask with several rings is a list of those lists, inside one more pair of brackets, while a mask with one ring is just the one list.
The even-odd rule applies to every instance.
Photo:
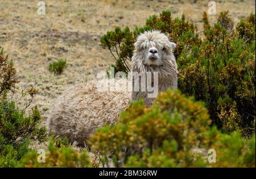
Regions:
[[0, 166], [13, 167], [31, 150], [31, 141], [46, 140], [46, 128], [39, 127], [41, 116], [36, 107], [26, 115], [16, 109], [14, 101], [0, 103]]

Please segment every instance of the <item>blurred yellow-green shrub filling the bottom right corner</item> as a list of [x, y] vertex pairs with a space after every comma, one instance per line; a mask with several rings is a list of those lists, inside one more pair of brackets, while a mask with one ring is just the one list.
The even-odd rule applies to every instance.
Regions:
[[255, 167], [255, 133], [248, 140], [240, 132], [228, 135], [213, 127], [205, 133], [205, 143], [216, 150], [216, 163], [211, 167]]

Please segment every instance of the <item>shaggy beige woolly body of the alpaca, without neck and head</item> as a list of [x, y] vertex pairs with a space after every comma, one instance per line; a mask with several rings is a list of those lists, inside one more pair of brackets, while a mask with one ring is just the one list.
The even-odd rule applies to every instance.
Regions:
[[[113, 80], [112, 80], [113, 81]], [[123, 80], [126, 83], [126, 80]], [[113, 83], [110, 83], [113, 84]], [[67, 136], [71, 143], [86, 143], [97, 128], [113, 124], [131, 101], [128, 91], [98, 91], [98, 81], [88, 81], [64, 91], [49, 111], [49, 132]]]

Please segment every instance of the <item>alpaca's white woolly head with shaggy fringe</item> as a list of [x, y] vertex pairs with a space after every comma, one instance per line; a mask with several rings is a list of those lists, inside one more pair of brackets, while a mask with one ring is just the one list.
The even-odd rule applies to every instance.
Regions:
[[139, 35], [135, 42], [135, 53], [146, 66], [161, 66], [164, 60], [170, 59], [170, 55], [176, 47], [168, 37], [160, 31], [146, 31]]

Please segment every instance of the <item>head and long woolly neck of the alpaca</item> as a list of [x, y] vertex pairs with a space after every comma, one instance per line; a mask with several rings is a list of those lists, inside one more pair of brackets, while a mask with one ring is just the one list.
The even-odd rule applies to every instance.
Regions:
[[[177, 63], [174, 56], [175, 43], [160, 31], [147, 31], [138, 36], [134, 44], [135, 51], [131, 59], [133, 73], [149, 72], [158, 73], [158, 91], [166, 91], [168, 88], [177, 89]], [[140, 76], [133, 75], [133, 86], [139, 81]], [[151, 78], [152, 79], [152, 78]], [[147, 88], [147, 79], [143, 84]], [[154, 85], [152, 79], [151, 85]], [[139, 82], [141, 86], [141, 82]], [[143, 98], [146, 106], [151, 106], [154, 98], [148, 98], [148, 91], [133, 90], [132, 101]]]

